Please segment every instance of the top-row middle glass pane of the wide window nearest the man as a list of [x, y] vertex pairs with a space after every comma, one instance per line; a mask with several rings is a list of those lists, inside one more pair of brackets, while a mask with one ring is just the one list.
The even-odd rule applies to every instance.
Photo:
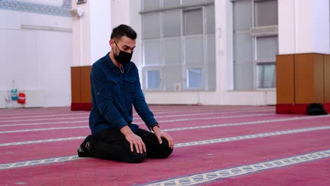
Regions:
[[164, 11], [163, 24], [164, 37], [181, 36], [181, 10]]

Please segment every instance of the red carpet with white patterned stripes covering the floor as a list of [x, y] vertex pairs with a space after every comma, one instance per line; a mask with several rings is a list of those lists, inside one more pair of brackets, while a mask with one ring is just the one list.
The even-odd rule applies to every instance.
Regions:
[[169, 159], [138, 164], [76, 156], [89, 112], [0, 110], [0, 185], [330, 185], [330, 116], [274, 106], [151, 109], [176, 147]]

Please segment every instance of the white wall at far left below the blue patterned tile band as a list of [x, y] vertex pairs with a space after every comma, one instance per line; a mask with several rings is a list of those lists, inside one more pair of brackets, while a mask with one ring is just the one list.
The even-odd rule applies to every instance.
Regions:
[[0, 90], [10, 90], [16, 80], [18, 90], [43, 90], [45, 106], [69, 106], [71, 32], [20, 27], [70, 29], [71, 18], [7, 10], [0, 10], [0, 17]]

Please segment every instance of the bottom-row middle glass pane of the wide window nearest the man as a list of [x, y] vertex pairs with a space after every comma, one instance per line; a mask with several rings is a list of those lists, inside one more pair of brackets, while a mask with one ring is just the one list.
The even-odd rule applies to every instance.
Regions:
[[181, 84], [181, 67], [164, 67], [164, 89], [176, 91], [176, 85]]

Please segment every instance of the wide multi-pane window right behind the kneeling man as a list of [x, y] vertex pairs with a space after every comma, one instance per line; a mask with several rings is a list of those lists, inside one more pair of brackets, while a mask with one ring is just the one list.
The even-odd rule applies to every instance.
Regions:
[[142, 0], [143, 88], [215, 90], [214, 1]]

